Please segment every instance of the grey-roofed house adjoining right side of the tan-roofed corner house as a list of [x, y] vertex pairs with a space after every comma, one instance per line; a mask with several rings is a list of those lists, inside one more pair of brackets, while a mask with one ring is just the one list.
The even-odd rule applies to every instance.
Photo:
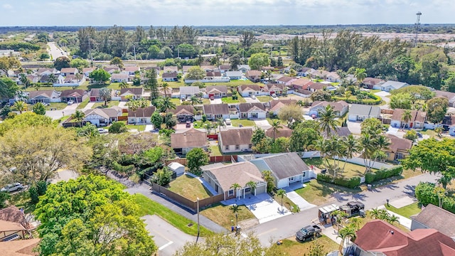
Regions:
[[271, 171], [277, 188], [286, 188], [292, 183], [310, 178], [310, 169], [296, 152], [273, 154], [250, 160], [258, 169]]

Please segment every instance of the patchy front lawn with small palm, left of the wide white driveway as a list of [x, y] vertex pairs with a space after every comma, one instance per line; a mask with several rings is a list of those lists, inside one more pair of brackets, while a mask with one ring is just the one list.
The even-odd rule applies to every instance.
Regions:
[[[222, 204], [217, 203], [210, 208], [200, 211], [200, 214], [209, 218], [213, 222], [218, 223], [218, 225], [230, 230], [230, 227], [235, 225], [235, 214], [232, 213], [230, 208], [231, 206], [223, 206]], [[245, 206], [239, 206], [239, 209], [240, 210], [237, 212], [237, 219], [239, 223], [242, 220], [255, 218], [255, 215], [253, 215]]]

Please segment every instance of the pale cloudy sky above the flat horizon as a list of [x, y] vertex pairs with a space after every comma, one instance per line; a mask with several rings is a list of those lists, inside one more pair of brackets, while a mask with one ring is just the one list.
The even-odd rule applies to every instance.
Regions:
[[455, 23], [454, 0], [0, 0], [0, 26]]

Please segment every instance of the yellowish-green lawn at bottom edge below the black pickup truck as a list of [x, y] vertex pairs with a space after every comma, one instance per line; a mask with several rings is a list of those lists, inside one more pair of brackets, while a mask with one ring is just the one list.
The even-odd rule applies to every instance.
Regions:
[[[296, 231], [302, 228], [300, 226], [296, 226]], [[276, 242], [276, 241], [274, 241]], [[336, 242], [333, 242], [330, 238], [326, 237], [326, 235], [321, 235], [321, 237], [316, 238], [316, 240], [308, 241], [308, 242], [299, 242], [295, 238], [287, 238], [283, 240], [282, 245], [277, 245], [276, 243], [272, 245], [273, 247], [277, 247], [276, 249], [279, 252], [287, 255], [309, 255], [311, 252], [311, 245], [315, 245], [319, 243], [323, 248], [323, 254], [326, 255], [328, 252], [332, 252], [334, 250], [338, 250], [338, 245]]]

